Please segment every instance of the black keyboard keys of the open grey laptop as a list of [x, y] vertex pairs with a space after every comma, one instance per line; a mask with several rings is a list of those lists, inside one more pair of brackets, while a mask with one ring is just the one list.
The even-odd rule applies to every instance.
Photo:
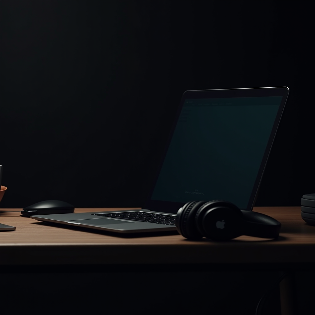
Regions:
[[129, 219], [132, 221], [141, 221], [165, 225], [175, 225], [176, 215], [161, 215], [159, 213], [130, 211], [130, 212], [116, 212], [116, 213], [93, 213], [107, 218]]

